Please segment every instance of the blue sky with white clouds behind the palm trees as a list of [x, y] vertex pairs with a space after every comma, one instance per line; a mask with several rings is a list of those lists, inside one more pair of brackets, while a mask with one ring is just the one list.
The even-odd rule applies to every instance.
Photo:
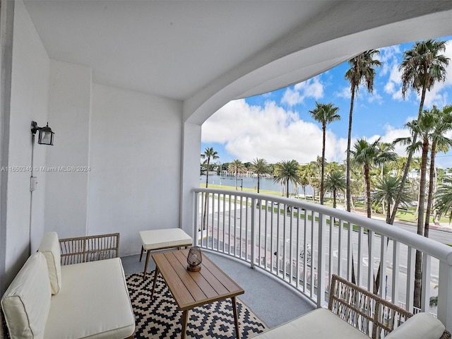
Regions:
[[[450, 58], [446, 81], [436, 83], [427, 93], [424, 109], [433, 105], [442, 108], [452, 104], [452, 37], [446, 40], [444, 54]], [[408, 136], [405, 123], [417, 117], [420, 97], [410, 93], [403, 100], [398, 65], [403, 52], [413, 43], [380, 49], [382, 66], [376, 69], [374, 93], [360, 88], [353, 110], [352, 143], [358, 138], [392, 142]], [[314, 121], [309, 110], [315, 103], [330, 103], [339, 107], [341, 119], [327, 126], [326, 161], [345, 161], [348, 117], [350, 112], [350, 84], [345, 81], [347, 62], [314, 78], [263, 95], [234, 100], [213, 114], [202, 126], [201, 153], [213, 147], [220, 158], [217, 162], [239, 159], [251, 162], [256, 157], [269, 163], [295, 159], [304, 164], [321, 155], [321, 125]], [[452, 138], [452, 131], [448, 133]], [[406, 155], [403, 146], [396, 148]], [[416, 156], [416, 155], [415, 155]], [[417, 155], [419, 156], [419, 155]], [[439, 153], [436, 165], [452, 167], [452, 150]]]

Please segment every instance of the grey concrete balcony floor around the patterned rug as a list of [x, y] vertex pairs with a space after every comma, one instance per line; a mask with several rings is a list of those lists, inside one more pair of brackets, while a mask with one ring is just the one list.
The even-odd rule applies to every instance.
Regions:
[[[203, 254], [245, 290], [244, 295], [240, 295], [239, 299], [269, 328], [295, 319], [315, 308], [312, 302], [292, 290], [290, 286], [261, 269], [250, 268], [249, 264], [222, 254], [210, 251], [203, 251]], [[139, 254], [124, 256], [121, 260], [126, 275], [143, 272], [145, 256], [141, 262]], [[154, 269], [155, 263], [150, 260], [148, 272]]]

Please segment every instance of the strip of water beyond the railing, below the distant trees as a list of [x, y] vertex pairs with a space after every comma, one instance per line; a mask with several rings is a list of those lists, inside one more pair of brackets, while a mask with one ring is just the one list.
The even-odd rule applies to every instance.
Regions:
[[[235, 187], [235, 177], [233, 175], [218, 175], [209, 174], [209, 184], [213, 185], [224, 185], [224, 186], [234, 186]], [[201, 184], [206, 184], [206, 175], [201, 175], [199, 182]], [[255, 189], [257, 191], [257, 177], [237, 177], [237, 188], [242, 187], [246, 189]], [[273, 177], [261, 177], [259, 180], [259, 188], [261, 190], [265, 189], [267, 191], [280, 192], [281, 195], [285, 192], [285, 185], [275, 183]], [[290, 194], [307, 194], [312, 195], [311, 186], [307, 186], [306, 193], [303, 191], [302, 186], [294, 186], [292, 182], [289, 184]]]

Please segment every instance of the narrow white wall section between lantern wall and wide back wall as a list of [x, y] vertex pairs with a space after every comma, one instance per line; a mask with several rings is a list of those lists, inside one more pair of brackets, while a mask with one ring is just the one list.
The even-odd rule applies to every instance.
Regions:
[[[45, 230], [60, 238], [86, 234], [90, 150], [91, 69], [50, 61]], [[51, 124], [51, 125], [50, 125]]]

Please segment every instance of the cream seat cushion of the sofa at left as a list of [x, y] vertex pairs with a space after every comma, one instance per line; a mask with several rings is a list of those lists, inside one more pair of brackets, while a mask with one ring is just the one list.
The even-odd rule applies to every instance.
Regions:
[[61, 279], [44, 338], [123, 339], [133, 334], [135, 317], [120, 258], [61, 266]]

